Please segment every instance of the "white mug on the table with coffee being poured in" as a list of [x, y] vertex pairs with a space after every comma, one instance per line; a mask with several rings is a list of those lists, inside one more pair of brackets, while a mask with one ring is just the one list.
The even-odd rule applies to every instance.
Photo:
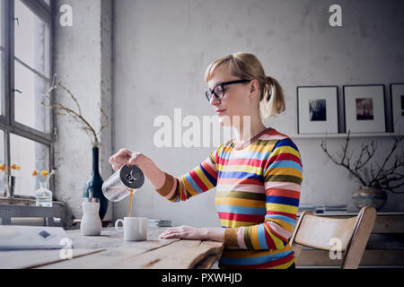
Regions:
[[[120, 229], [119, 222], [123, 224]], [[119, 232], [123, 230], [126, 241], [144, 241], [147, 240], [147, 224], [147, 217], [124, 217], [115, 222], [115, 229]]]

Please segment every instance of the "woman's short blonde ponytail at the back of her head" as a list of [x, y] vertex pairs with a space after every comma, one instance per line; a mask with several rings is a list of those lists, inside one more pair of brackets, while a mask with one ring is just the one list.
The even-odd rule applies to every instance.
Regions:
[[266, 77], [266, 84], [259, 99], [259, 114], [262, 119], [276, 117], [285, 110], [285, 94], [273, 77]]

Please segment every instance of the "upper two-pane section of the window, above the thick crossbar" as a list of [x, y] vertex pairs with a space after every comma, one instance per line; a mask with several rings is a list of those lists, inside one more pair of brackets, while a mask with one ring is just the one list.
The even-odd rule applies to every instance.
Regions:
[[41, 104], [49, 89], [49, 28], [21, 0], [14, 1], [15, 121], [49, 132], [49, 109]]

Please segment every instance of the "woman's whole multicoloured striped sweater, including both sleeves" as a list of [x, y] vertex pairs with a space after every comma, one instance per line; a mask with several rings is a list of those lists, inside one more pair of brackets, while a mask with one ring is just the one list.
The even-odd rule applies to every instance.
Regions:
[[179, 178], [166, 173], [156, 189], [171, 202], [216, 187], [215, 204], [224, 227], [221, 268], [287, 268], [294, 263], [288, 244], [296, 222], [302, 161], [292, 140], [268, 128], [237, 148], [233, 140]]

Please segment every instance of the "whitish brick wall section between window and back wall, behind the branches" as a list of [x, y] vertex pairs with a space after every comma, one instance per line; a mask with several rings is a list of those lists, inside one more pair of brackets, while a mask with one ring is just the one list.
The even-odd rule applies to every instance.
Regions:
[[[73, 25], [61, 26], [59, 8], [70, 4]], [[110, 0], [57, 1], [55, 12], [55, 71], [58, 79], [73, 92], [83, 117], [98, 131], [100, 106], [109, 116], [110, 125], [101, 133], [100, 171], [102, 178], [111, 174], [112, 126], [112, 2]], [[66, 92], [57, 90], [57, 100], [75, 108]], [[82, 217], [83, 187], [92, 173], [90, 137], [71, 117], [57, 116], [55, 151], [57, 200], [64, 201], [68, 217]], [[105, 219], [112, 218], [112, 204]]]

